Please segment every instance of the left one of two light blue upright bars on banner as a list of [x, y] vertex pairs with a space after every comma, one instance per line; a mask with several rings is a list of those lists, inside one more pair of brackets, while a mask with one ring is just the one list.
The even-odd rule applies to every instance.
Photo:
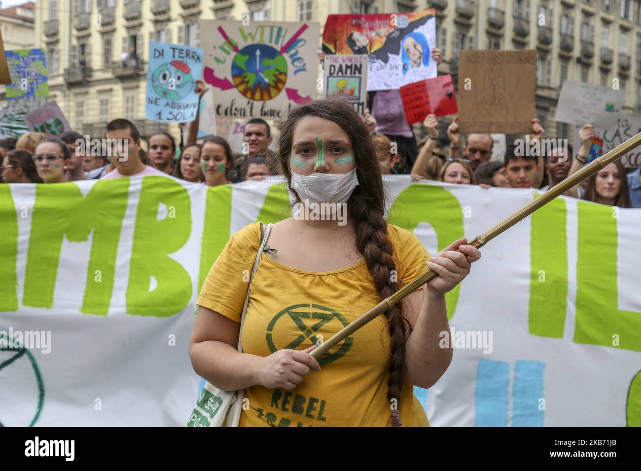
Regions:
[[476, 368], [474, 427], [507, 427], [510, 363], [479, 359]]

